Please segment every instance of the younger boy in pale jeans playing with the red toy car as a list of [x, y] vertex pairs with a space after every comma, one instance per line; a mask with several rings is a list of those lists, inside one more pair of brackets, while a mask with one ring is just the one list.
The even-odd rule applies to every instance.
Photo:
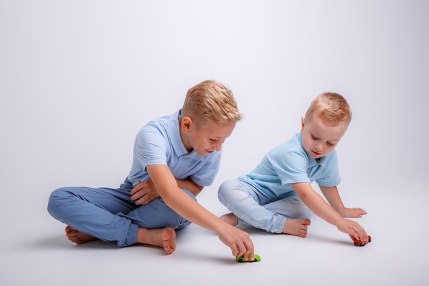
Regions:
[[[352, 119], [347, 101], [337, 93], [316, 97], [301, 132], [274, 147], [250, 173], [219, 187], [219, 200], [232, 213], [228, 224], [254, 226], [269, 233], [305, 237], [311, 211], [352, 238], [367, 241], [365, 229], [344, 217], [362, 217], [362, 208], [346, 208], [336, 185], [341, 178], [334, 148]], [[329, 204], [311, 182], [319, 184]]]

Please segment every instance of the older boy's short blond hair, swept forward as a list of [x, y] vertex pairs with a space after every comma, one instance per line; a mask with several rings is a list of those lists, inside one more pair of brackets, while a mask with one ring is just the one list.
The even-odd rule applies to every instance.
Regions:
[[231, 123], [243, 118], [230, 89], [215, 80], [205, 80], [189, 88], [182, 117], [193, 119], [197, 128], [206, 123]]

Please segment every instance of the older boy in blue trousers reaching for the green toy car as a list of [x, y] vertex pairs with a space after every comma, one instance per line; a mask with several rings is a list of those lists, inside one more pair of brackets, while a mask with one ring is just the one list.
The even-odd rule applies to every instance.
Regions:
[[118, 189], [60, 188], [51, 193], [48, 211], [68, 225], [66, 236], [77, 244], [145, 243], [171, 254], [175, 230], [195, 222], [217, 233], [235, 257], [253, 260], [249, 235], [195, 198], [215, 179], [221, 145], [241, 117], [232, 91], [214, 80], [201, 82], [189, 89], [181, 110], [138, 132], [130, 174]]

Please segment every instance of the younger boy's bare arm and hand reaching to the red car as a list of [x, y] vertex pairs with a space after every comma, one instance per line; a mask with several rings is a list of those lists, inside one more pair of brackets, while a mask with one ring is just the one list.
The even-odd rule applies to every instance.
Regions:
[[299, 198], [310, 208], [310, 210], [324, 219], [326, 222], [333, 224], [343, 233], [347, 233], [356, 239], [366, 241], [368, 235], [365, 229], [357, 222], [345, 219], [334, 208], [332, 208], [321, 195], [312, 189], [308, 182], [299, 182], [292, 184], [293, 189]]

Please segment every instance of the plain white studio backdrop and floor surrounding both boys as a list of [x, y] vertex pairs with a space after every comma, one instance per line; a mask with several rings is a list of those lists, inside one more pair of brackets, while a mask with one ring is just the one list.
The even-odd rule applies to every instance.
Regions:
[[[427, 285], [429, 2], [0, 1], [1, 285]], [[346, 206], [373, 237], [356, 248], [313, 217], [308, 237], [247, 229], [260, 263], [235, 263], [208, 230], [146, 246], [74, 246], [53, 189], [118, 187], [147, 121], [203, 80], [245, 115], [199, 202], [299, 132], [320, 93], [349, 101], [337, 147]], [[39, 285], [38, 284], [38, 285]]]

